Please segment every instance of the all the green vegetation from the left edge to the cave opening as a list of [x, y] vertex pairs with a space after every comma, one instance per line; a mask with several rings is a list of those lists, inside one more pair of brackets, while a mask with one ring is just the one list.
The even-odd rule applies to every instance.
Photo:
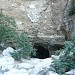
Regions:
[[14, 41], [17, 51], [14, 51], [11, 55], [16, 60], [21, 59], [21, 57], [28, 58], [31, 55], [35, 55], [36, 51], [28, 35], [25, 32], [17, 33], [15, 27], [15, 20], [0, 12], [0, 43], [5, 43], [9, 40]]

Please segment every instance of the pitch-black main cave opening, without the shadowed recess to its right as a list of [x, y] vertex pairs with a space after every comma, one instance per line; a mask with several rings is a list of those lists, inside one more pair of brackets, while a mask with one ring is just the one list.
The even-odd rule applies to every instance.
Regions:
[[49, 58], [49, 51], [42, 45], [34, 45], [34, 48], [37, 49], [36, 56], [34, 58], [45, 59]]

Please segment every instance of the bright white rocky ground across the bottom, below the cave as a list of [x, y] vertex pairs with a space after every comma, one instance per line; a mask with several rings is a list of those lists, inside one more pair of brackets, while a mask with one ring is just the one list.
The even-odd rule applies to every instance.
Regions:
[[15, 61], [10, 55], [13, 51], [13, 48], [8, 47], [1, 53], [0, 75], [58, 75], [49, 71], [51, 58], [30, 60], [22, 58], [22, 61]]

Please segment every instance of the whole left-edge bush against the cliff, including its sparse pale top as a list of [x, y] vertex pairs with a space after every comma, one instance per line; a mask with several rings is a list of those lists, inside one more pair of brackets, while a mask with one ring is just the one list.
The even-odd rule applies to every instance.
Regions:
[[12, 40], [15, 37], [15, 25], [16, 23], [13, 18], [0, 12], [0, 43]]

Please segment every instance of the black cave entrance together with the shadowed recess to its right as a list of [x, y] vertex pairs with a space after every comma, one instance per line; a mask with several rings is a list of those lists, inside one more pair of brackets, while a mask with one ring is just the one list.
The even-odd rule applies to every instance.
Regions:
[[44, 45], [44, 44], [39, 44], [36, 43], [34, 44], [34, 48], [37, 49], [36, 56], [33, 56], [34, 58], [39, 58], [39, 59], [45, 59], [51, 57], [51, 55], [54, 55], [57, 50], [60, 50], [64, 47], [64, 45], [60, 44], [54, 44], [54, 45]]

